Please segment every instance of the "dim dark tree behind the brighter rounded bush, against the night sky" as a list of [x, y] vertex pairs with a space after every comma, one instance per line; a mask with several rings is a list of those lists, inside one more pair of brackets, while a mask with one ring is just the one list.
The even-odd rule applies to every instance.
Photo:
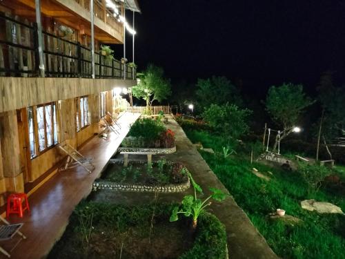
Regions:
[[211, 104], [236, 104], [242, 105], [239, 90], [226, 77], [211, 77], [197, 79], [197, 103], [201, 107], [209, 107]]

